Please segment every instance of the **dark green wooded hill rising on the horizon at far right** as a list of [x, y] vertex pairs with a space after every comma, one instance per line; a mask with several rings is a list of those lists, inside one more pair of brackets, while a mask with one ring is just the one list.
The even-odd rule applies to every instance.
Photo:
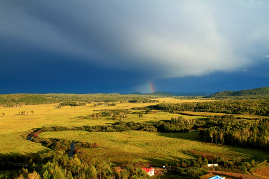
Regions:
[[221, 91], [208, 97], [231, 97], [231, 96], [269, 96], [269, 87], [257, 89], [245, 89], [239, 91]]

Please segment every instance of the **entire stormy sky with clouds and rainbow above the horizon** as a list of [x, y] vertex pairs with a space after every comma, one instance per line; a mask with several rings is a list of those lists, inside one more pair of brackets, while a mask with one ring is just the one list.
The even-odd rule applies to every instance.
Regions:
[[268, 0], [0, 1], [0, 93], [260, 87]]

